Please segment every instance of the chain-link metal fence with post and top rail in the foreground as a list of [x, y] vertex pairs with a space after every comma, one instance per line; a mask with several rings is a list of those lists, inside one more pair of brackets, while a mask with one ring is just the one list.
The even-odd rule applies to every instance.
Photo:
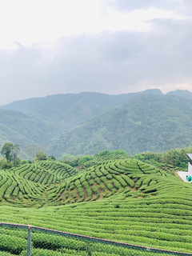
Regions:
[[0, 223], [0, 256], [163, 256], [167, 254], [192, 255], [112, 242], [37, 226]]

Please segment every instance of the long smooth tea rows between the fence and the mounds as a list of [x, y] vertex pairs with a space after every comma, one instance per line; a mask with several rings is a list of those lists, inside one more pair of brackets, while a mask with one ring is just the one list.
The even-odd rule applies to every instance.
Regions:
[[158, 194], [126, 200], [120, 199], [119, 194], [119, 197], [114, 195], [97, 202], [38, 210], [4, 206], [0, 217], [4, 222], [30, 223], [75, 234], [191, 252], [192, 199], [179, 196], [180, 192], [178, 190], [176, 196]]

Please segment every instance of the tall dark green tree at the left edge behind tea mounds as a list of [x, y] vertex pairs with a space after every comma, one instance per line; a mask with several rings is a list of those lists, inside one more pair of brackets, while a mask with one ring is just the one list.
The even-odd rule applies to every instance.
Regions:
[[14, 144], [12, 142], [6, 142], [2, 146], [1, 154], [6, 157], [7, 162], [14, 162], [16, 164], [18, 162], [18, 153], [20, 149], [18, 144]]

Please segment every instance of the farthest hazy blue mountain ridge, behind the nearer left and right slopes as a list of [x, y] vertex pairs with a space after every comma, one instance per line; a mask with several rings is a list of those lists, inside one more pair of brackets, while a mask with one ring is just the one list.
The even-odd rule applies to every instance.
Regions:
[[[61, 133], [86, 122], [103, 109], [113, 104], [121, 104], [134, 98], [138, 94], [162, 94], [160, 90], [146, 90], [139, 93], [108, 95], [99, 93], [81, 94], [56, 94], [45, 98], [30, 98], [12, 102], [2, 109], [16, 110], [23, 114], [42, 119], [42, 122], [49, 121]], [[57, 125], [55, 125], [57, 124]], [[52, 134], [54, 133], [51, 130]], [[48, 134], [47, 134], [48, 135]]]

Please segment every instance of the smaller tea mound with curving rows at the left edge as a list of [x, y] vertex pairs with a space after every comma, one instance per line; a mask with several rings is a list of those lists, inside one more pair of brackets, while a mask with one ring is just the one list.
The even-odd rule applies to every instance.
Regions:
[[0, 170], [0, 200], [14, 206], [42, 206], [46, 204], [46, 190], [51, 184], [77, 173], [70, 166], [48, 161]]

